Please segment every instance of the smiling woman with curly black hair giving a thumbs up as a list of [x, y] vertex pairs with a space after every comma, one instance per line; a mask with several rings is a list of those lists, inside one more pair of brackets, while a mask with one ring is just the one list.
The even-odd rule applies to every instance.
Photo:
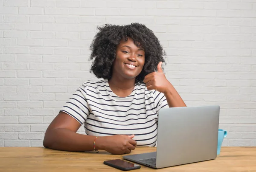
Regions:
[[[160, 108], [186, 106], [161, 68], [165, 52], [145, 25], [105, 25], [90, 46], [91, 71], [47, 128], [44, 147], [130, 153], [155, 146]], [[85, 133], [76, 133], [84, 124]]]

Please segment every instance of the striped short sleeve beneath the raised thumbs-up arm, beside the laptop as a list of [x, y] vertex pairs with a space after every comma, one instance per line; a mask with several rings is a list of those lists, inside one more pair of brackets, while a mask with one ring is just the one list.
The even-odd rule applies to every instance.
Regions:
[[153, 98], [154, 98], [154, 103], [156, 104], [156, 107], [157, 107], [157, 116], [158, 116], [159, 110], [161, 108], [168, 108], [169, 105], [165, 95], [157, 90], [154, 90]]

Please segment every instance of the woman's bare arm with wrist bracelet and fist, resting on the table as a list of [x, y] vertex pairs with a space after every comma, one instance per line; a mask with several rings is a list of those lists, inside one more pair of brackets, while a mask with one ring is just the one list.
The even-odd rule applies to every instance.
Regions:
[[[60, 112], [46, 130], [43, 145], [49, 149], [84, 152], [94, 150], [96, 136], [76, 133], [81, 124], [67, 113]], [[95, 148], [112, 154], [130, 153], [136, 147], [134, 136], [112, 135], [98, 137]]]

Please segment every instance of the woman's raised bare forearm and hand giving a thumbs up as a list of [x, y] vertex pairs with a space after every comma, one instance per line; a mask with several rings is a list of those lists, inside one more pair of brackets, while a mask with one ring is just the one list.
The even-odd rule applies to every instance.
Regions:
[[157, 72], [149, 73], [145, 76], [143, 82], [148, 90], [157, 90], [164, 93], [169, 107], [186, 107], [179, 93], [173, 85], [166, 79], [161, 68], [162, 62], [157, 65]]

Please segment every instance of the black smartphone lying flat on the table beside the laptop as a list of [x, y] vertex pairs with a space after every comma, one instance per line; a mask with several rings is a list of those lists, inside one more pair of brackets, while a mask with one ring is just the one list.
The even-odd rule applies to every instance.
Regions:
[[104, 161], [103, 164], [112, 166], [116, 169], [121, 169], [123, 171], [128, 171], [128, 170], [132, 170], [132, 169], [140, 169], [140, 165], [133, 164], [128, 161], [123, 161], [121, 159]]

